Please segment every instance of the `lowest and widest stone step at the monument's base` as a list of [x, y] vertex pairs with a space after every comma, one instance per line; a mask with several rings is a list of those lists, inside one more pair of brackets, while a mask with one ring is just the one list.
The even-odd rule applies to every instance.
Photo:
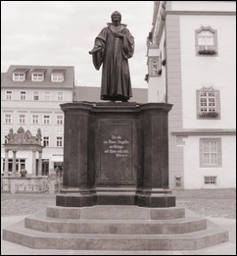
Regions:
[[24, 228], [24, 221], [3, 230], [3, 239], [34, 249], [197, 250], [228, 240], [211, 222], [208, 229], [185, 234], [47, 233]]

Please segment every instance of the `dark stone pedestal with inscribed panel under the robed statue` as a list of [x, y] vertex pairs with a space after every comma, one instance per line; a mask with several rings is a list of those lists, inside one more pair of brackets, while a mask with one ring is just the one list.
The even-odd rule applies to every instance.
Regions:
[[168, 190], [170, 104], [76, 102], [61, 108], [64, 188], [58, 206], [175, 206]]

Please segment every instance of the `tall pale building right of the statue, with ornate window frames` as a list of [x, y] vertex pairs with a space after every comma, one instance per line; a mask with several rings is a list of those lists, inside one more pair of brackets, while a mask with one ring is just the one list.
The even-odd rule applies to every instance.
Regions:
[[236, 2], [154, 1], [148, 100], [168, 114], [170, 188], [236, 186]]

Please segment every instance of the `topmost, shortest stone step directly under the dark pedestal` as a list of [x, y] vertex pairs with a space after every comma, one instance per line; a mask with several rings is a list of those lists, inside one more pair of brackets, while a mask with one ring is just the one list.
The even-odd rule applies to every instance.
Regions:
[[90, 207], [50, 206], [46, 215], [51, 218], [81, 220], [173, 220], [185, 217], [185, 208], [146, 208], [123, 205]]

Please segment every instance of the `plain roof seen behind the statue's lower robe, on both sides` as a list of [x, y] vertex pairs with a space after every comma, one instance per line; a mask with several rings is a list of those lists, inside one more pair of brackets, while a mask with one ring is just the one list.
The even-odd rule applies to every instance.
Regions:
[[[100, 95], [100, 87], [75, 86], [73, 101], [104, 102], [104, 100], [100, 99]], [[132, 95], [131, 101], [137, 103], [148, 102], [147, 88], [132, 88]]]

